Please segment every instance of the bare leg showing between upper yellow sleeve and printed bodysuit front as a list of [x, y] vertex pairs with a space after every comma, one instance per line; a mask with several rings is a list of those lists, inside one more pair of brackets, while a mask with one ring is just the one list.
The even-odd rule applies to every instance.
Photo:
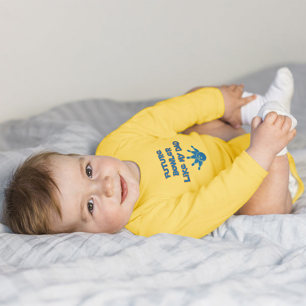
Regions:
[[190, 126], [182, 133], [190, 134], [191, 132], [218, 137], [223, 139], [224, 141], [228, 141], [237, 136], [245, 134], [245, 131], [242, 129], [242, 127], [239, 127], [239, 129], [234, 129], [233, 126], [221, 121], [220, 119], [205, 122], [202, 124], [195, 124], [193, 126]]

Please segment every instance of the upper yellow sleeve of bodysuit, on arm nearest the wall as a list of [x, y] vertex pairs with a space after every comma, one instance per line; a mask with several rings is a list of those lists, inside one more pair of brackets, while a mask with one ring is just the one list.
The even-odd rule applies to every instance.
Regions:
[[222, 117], [224, 99], [217, 88], [202, 88], [194, 92], [161, 101], [148, 107], [119, 127], [120, 137], [170, 137], [193, 124]]

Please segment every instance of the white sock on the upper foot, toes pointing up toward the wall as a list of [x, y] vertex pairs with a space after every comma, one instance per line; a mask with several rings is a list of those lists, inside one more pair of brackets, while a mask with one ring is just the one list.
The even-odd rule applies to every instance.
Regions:
[[[290, 113], [290, 102], [294, 91], [294, 81], [291, 71], [287, 67], [277, 70], [275, 78], [264, 96], [257, 94], [256, 99], [241, 107], [242, 124], [250, 125], [254, 116], [260, 108], [268, 101], [278, 101], [285, 110]], [[249, 92], [243, 92], [242, 97], [252, 95]]]

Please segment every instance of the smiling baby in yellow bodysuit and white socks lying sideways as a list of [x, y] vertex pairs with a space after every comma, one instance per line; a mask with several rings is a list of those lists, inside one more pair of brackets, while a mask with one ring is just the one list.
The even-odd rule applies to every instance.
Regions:
[[95, 156], [31, 156], [5, 191], [6, 223], [22, 234], [126, 227], [200, 238], [233, 214], [290, 213], [303, 192], [286, 148], [296, 135], [292, 94], [288, 68], [264, 96], [243, 85], [195, 88], [140, 111]]

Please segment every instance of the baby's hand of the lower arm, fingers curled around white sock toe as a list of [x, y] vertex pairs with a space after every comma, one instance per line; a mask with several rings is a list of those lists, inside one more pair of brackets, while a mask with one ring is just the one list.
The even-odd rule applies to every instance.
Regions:
[[264, 121], [260, 117], [254, 117], [247, 153], [268, 170], [276, 154], [295, 137], [296, 130], [290, 129], [291, 119], [287, 116], [270, 112]]

